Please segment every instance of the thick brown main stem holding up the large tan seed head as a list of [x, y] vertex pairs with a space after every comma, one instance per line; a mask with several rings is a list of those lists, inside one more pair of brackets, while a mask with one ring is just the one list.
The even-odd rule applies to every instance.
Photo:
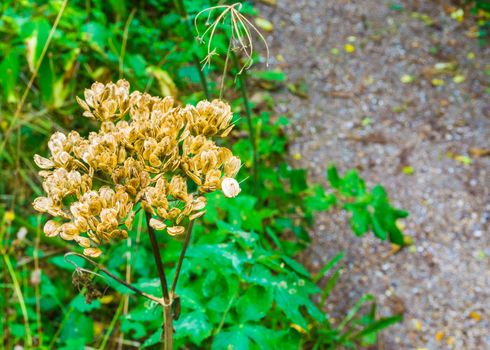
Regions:
[[146, 226], [148, 228], [148, 235], [150, 236], [151, 248], [153, 250], [153, 257], [157, 265], [158, 277], [160, 278], [160, 284], [162, 286], [163, 294], [163, 342], [165, 350], [173, 349], [173, 335], [174, 329], [172, 325], [172, 296], [169, 295], [167, 279], [165, 278], [165, 271], [162, 264], [162, 256], [160, 255], [160, 249], [158, 248], [157, 238], [153, 227], [150, 226], [151, 214], [146, 212]]

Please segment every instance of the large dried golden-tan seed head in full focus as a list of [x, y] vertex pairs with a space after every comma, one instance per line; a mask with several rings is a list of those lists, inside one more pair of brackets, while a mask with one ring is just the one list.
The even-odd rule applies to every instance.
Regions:
[[212, 139], [233, 128], [228, 104], [174, 106], [171, 97], [130, 94], [125, 80], [94, 83], [77, 100], [101, 126], [87, 138], [56, 132], [51, 156], [34, 157], [46, 196], [33, 206], [59, 218], [46, 223], [46, 235], [75, 240], [95, 257], [101, 243], [127, 237], [138, 205], [151, 213], [153, 228], [180, 235], [186, 220], [204, 214], [203, 194], [240, 192], [240, 159]]

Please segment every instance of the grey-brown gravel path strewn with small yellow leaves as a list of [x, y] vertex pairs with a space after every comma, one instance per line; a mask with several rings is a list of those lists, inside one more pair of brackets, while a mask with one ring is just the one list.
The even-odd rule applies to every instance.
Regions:
[[334, 317], [363, 293], [378, 297], [380, 314], [404, 312], [382, 349], [490, 349], [490, 157], [475, 150], [490, 148], [490, 52], [468, 38], [469, 21], [435, 2], [401, 11], [392, 3], [261, 7], [274, 24], [273, 67], [308, 87], [308, 98], [276, 96], [296, 165], [314, 181], [330, 161], [356, 167], [411, 213], [414, 245], [394, 255], [371, 235], [356, 239], [346, 215], [319, 215], [311, 264], [346, 252], [327, 306]]

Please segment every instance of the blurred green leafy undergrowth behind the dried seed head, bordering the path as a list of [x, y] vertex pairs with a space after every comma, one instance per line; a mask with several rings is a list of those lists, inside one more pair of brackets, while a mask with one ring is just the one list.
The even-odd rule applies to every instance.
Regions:
[[[245, 162], [239, 175], [244, 190], [235, 199], [209, 196], [208, 212], [196, 225], [178, 290], [178, 348], [356, 347], [375, 344], [376, 333], [400, 319], [379, 318], [371, 295], [353, 303], [336, 326], [321, 311], [340, 276], [342, 254], [316, 274], [297, 261], [309, 244], [314, 213], [342, 207], [351, 213], [355, 234], [371, 230], [400, 246], [404, 238], [396, 221], [407, 213], [391, 207], [381, 186], [366, 188], [355, 171], [341, 176], [329, 168], [326, 190], [309, 184], [306, 170], [288, 165], [283, 131], [288, 120], [272, 113], [269, 94], [285, 76], [266, 69], [265, 48], [255, 54], [257, 65], [241, 75], [243, 55], [234, 52], [223, 75], [229, 41], [224, 28], [213, 42], [219, 55], [201, 70], [207, 50], [195, 39], [193, 18], [214, 5], [210, 0], [0, 4], [2, 348], [158, 347], [158, 308], [110, 280], [77, 279], [63, 258], [76, 248], [45, 238], [45, 218], [33, 214], [30, 204], [42, 194], [33, 155], [47, 153], [55, 131], [93, 130], [96, 125], [81, 117], [75, 96], [94, 81], [119, 78], [132, 89], [171, 95], [182, 104], [217, 98], [225, 79], [223, 98], [235, 112], [237, 126], [227, 146]], [[477, 2], [475, 9], [488, 5]], [[253, 21], [257, 10], [244, 3], [241, 13]], [[263, 19], [254, 23], [259, 30], [269, 25]], [[480, 28], [484, 37], [488, 20]], [[139, 225], [129, 239], [113, 245], [101, 263], [158, 294], [142, 220], [136, 218]], [[172, 268], [181, 242], [161, 239]]]

